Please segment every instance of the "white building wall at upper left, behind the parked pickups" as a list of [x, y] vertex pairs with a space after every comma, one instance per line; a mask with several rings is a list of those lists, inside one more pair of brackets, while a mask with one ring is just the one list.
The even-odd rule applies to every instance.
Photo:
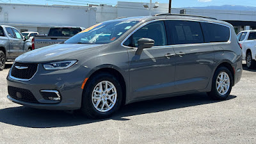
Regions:
[[88, 6], [47, 6], [0, 3], [0, 24], [29, 28], [52, 26], [81, 26], [96, 23], [96, 8]]

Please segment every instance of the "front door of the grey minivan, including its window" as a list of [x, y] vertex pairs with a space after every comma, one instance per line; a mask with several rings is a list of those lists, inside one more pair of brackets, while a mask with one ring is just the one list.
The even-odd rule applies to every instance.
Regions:
[[[151, 38], [154, 47], [143, 49], [136, 55], [138, 40]], [[175, 92], [175, 57], [171, 46], [167, 46], [164, 21], [151, 22], [136, 31], [124, 45], [130, 61], [131, 99], [141, 99]]]

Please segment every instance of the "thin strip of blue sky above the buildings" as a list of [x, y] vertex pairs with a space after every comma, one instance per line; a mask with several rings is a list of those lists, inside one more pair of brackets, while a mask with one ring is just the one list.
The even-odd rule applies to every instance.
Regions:
[[[88, 4], [112, 4], [117, 1], [130, 2], [149, 2], [150, 0], [0, 0], [0, 3], [23, 3], [23, 4], [68, 4], [68, 5], [84, 5]], [[152, 2], [156, 2], [152, 0]], [[159, 3], [168, 3], [168, 0], [157, 0]], [[255, 6], [255, 0], [172, 0], [173, 8], [189, 7], [189, 6], [220, 6], [224, 4], [234, 4], [243, 6]]]

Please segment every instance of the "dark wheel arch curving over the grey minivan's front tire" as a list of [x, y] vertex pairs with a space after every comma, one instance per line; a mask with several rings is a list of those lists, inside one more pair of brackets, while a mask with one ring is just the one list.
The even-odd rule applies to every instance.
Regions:
[[[120, 84], [122, 87], [122, 95], [123, 95], [122, 105], [124, 105], [127, 98], [127, 83], [125, 82], [125, 78], [120, 68], [116, 67], [115, 65], [100, 65], [99, 67], [93, 68], [91, 72], [89, 72], [88, 76], [86, 76], [88, 77], [88, 80], [86, 81], [86, 84], [84, 85], [84, 87], [87, 86], [88, 81], [90, 81], [90, 79], [92, 79], [93, 76], [100, 73], [104, 73], [104, 72], [115, 76], [118, 79], [118, 81], [120, 81]], [[84, 88], [84, 90], [85, 89], [86, 88]]]

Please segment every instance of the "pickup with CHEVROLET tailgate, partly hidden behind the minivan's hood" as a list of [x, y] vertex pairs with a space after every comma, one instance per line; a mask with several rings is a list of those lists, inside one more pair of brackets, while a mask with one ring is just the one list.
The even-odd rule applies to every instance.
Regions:
[[71, 36], [76, 35], [84, 28], [82, 27], [54, 27], [50, 28], [47, 36], [35, 36], [32, 39], [33, 49], [38, 49], [52, 44], [64, 42]]

